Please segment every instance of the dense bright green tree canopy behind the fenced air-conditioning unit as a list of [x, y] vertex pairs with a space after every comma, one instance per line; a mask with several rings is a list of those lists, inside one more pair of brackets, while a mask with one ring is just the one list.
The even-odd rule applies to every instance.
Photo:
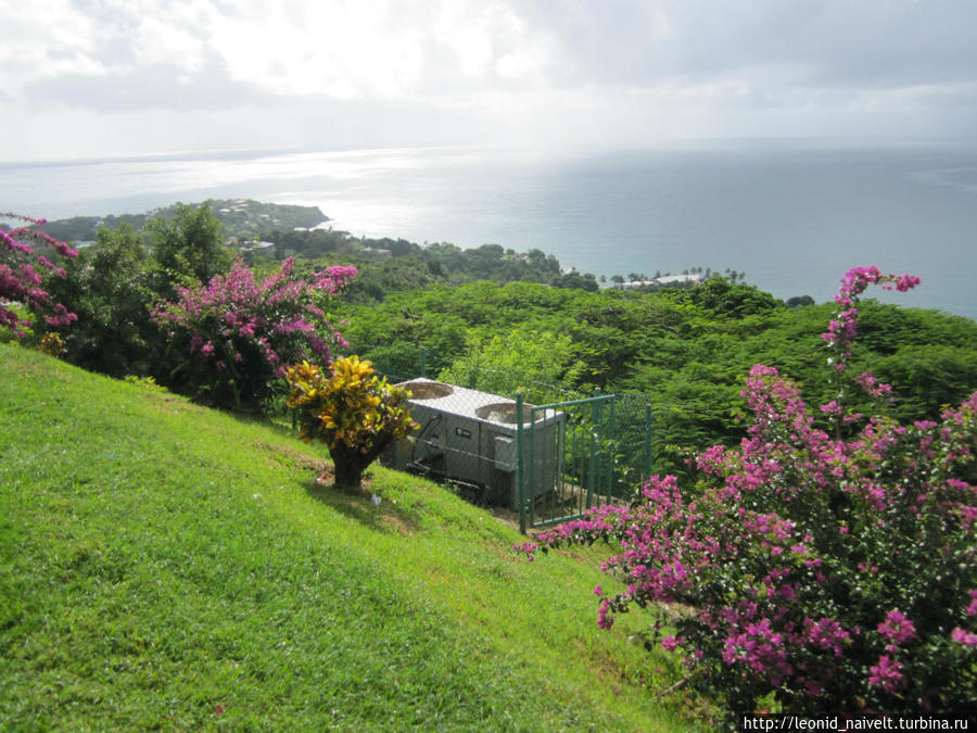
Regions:
[[[658, 293], [477, 282], [334, 311], [347, 321], [351, 350], [386, 374], [417, 375], [424, 347], [429, 372], [457, 376], [460, 364], [494, 349], [481, 361], [484, 370], [507, 370], [499, 387], [538, 379], [564, 393], [596, 387], [634, 394], [654, 408], [656, 467], [669, 471], [684, 470], [669, 446], [733, 445], [745, 435], [739, 390], [757, 362], [801, 381], [812, 401], [828, 402], [835, 388], [822, 368], [828, 353], [821, 333], [832, 312], [830, 304], [790, 308], [725, 279]], [[892, 384], [900, 420], [934, 419], [977, 384], [974, 321], [874, 301], [860, 315], [855, 368]], [[532, 366], [541, 361], [532, 353], [546, 344], [553, 358], [544, 370]]]

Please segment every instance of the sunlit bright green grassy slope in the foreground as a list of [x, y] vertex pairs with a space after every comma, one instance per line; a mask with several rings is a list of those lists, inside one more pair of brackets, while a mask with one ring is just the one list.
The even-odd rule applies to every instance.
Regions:
[[685, 725], [647, 619], [596, 628], [596, 549], [530, 564], [433, 484], [338, 495], [321, 448], [17, 346], [0, 416], [4, 728]]

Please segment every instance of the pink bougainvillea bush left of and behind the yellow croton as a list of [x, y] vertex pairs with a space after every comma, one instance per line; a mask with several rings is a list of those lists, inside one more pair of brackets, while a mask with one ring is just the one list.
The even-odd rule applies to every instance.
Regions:
[[344, 345], [322, 306], [355, 275], [355, 267], [329, 267], [299, 277], [289, 258], [257, 280], [238, 261], [207, 285], [177, 288], [175, 302], [152, 311], [178, 355], [172, 381], [216, 405], [261, 406], [284, 383], [286, 365], [328, 363], [330, 344]]

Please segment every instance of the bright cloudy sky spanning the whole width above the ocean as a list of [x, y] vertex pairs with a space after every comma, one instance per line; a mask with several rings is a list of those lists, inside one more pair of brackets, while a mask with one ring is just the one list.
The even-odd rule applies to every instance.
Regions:
[[0, 161], [977, 131], [974, 0], [0, 0]]

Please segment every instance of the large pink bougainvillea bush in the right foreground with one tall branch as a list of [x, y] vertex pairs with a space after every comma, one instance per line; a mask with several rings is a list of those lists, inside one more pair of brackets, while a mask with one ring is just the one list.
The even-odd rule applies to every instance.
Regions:
[[[634, 505], [540, 538], [543, 549], [619, 544], [604, 570], [626, 590], [595, 591], [597, 623], [610, 628], [633, 604], [671, 604], [655, 641], [734, 713], [758, 702], [798, 712], [977, 709], [977, 393], [940, 421], [905, 426], [846, 408], [853, 389], [889, 399], [871, 374], [847, 374], [858, 296], [917, 282], [874, 267], [846, 275], [824, 334], [838, 394], [816, 413], [796, 383], [757, 365], [744, 390], [747, 438], [696, 456], [694, 488], [655, 477]], [[815, 427], [815, 414], [833, 429]]]

